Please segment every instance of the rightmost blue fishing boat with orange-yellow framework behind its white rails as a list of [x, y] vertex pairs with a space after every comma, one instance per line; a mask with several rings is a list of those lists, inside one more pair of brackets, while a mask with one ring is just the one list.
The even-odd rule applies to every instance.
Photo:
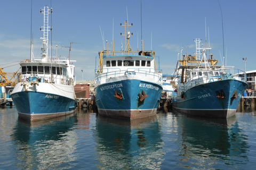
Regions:
[[[196, 53], [181, 55], [175, 69], [173, 86], [177, 97], [172, 100], [174, 111], [195, 116], [231, 117], [235, 115], [243, 92], [247, 88], [244, 72], [234, 67], [217, 65], [210, 47], [199, 48]], [[202, 53], [201, 53], [202, 50]]]

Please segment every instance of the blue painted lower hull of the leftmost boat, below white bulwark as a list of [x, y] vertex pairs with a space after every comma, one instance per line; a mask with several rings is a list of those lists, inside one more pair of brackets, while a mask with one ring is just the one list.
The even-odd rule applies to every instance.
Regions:
[[44, 120], [73, 113], [75, 100], [36, 91], [21, 91], [11, 95], [19, 116], [30, 121]]

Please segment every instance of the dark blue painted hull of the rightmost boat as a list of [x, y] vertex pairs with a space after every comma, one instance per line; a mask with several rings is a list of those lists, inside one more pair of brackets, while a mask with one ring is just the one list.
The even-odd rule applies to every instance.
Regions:
[[[190, 88], [172, 101], [174, 111], [195, 116], [231, 117], [236, 113], [247, 83], [234, 80], [220, 80]], [[221, 90], [225, 97], [217, 97]], [[236, 93], [237, 92], [237, 93]], [[236, 99], [233, 97], [235, 94]]]

